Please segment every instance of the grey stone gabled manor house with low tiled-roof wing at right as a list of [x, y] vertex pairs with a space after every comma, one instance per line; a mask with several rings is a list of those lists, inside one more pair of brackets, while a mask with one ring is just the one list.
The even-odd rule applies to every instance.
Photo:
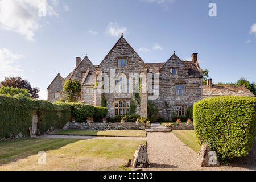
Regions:
[[66, 78], [58, 73], [48, 86], [48, 100], [64, 98], [64, 81], [76, 79], [82, 85], [79, 102], [101, 106], [104, 94], [108, 117], [129, 112], [130, 100], [137, 91], [137, 114], [147, 117], [150, 101], [158, 107], [159, 116], [170, 119], [173, 112], [185, 115], [189, 106], [204, 97], [253, 96], [244, 86], [212, 86], [211, 79], [203, 86], [202, 78], [197, 53], [192, 54], [192, 61], [183, 61], [174, 52], [164, 63], [144, 63], [122, 35], [100, 65], [94, 65], [87, 55], [84, 59], [76, 57], [73, 72]]

